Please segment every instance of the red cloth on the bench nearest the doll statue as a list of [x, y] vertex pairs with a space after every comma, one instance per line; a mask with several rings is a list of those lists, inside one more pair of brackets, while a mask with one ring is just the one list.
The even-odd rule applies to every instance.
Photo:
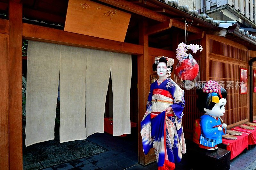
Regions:
[[227, 144], [227, 150], [231, 152], [231, 158], [235, 158], [242, 153], [245, 148], [248, 149], [248, 134], [242, 133], [241, 136], [236, 136], [236, 140], [228, 140], [222, 138], [222, 143]]

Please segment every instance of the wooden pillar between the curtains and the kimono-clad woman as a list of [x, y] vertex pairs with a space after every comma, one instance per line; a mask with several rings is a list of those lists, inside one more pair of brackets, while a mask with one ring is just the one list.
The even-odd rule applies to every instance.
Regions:
[[[142, 147], [142, 138], [140, 135], [140, 122], [146, 112], [146, 103], [148, 100], [149, 85], [149, 61], [148, 61], [148, 35], [146, 34], [147, 22], [144, 20], [139, 25], [139, 43], [143, 45], [143, 55], [138, 55], [138, 84], [139, 84], [139, 162], [147, 165], [149, 154], [145, 155]], [[152, 61], [151, 61], [152, 63]]]

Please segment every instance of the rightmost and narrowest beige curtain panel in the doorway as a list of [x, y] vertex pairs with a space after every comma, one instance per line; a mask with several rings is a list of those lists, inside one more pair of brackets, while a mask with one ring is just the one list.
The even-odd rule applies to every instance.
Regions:
[[113, 135], [131, 133], [130, 89], [132, 78], [132, 56], [113, 53], [111, 79], [113, 89]]

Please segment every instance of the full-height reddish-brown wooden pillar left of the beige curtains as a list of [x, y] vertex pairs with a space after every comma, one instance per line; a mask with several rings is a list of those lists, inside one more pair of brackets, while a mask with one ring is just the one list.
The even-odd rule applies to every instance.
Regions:
[[9, 1], [9, 169], [22, 168], [22, 3]]

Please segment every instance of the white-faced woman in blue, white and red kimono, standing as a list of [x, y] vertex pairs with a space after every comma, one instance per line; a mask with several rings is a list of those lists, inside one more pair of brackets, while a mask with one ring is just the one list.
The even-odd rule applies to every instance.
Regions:
[[172, 81], [172, 58], [160, 57], [153, 64], [159, 79], [151, 84], [146, 113], [141, 121], [143, 151], [153, 148], [158, 169], [175, 169], [186, 152], [181, 118], [184, 91]]

